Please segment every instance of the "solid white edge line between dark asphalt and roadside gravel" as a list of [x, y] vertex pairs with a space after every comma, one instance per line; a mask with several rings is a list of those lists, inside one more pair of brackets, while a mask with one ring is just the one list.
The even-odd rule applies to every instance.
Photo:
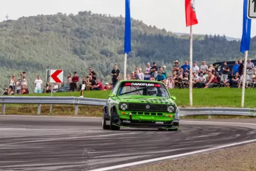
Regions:
[[218, 150], [218, 149], [222, 149], [222, 148], [238, 146], [238, 145], [241, 145], [241, 144], [251, 143], [251, 142], [256, 142], [256, 139], [249, 140], [249, 141], [242, 141], [242, 142], [237, 142], [237, 143], [226, 144], [226, 145], [217, 146], [217, 147], [214, 147], [214, 148], [208, 148], [208, 149], [203, 149], [203, 150], [181, 153], [179, 155], [173, 155], [173, 156], [166, 156], [166, 157], [160, 157], [160, 158], [149, 159], [149, 160], [136, 161], [136, 162], [133, 162], [133, 163], [123, 164], [123, 165], [116, 165], [116, 166], [105, 167], [105, 168], [99, 168], [99, 169], [94, 169], [94, 170], [89, 170], [89, 171], [105, 171], [105, 170], [119, 169], [119, 168], [123, 168], [123, 167], [130, 167], [130, 166], [141, 165], [141, 164], [148, 164], [148, 163], [155, 162], [155, 161], [172, 159], [172, 158], [177, 158], [177, 157], [184, 157], [184, 156], [194, 155], [194, 154], [201, 153], [201, 152], [208, 152], [208, 151], [212, 151], [212, 150]]

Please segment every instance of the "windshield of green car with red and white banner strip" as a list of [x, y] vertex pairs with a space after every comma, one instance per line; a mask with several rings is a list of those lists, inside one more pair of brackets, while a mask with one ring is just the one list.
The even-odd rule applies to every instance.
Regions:
[[157, 96], [170, 98], [165, 85], [155, 82], [122, 82], [118, 95]]

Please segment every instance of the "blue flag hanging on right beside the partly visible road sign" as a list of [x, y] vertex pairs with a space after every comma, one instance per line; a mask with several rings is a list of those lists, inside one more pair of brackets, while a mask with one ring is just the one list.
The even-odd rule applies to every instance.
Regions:
[[246, 50], [250, 50], [251, 42], [251, 23], [252, 20], [247, 16], [248, 0], [244, 0], [243, 11], [243, 36], [241, 40], [240, 52], [244, 53]]

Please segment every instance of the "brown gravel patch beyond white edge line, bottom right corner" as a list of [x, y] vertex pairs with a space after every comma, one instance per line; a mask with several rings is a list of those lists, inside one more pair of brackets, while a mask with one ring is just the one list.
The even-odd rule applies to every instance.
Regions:
[[162, 161], [158, 164], [151, 164], [138, 168], [123, 170], [131, 171], [157, 171], [157, 170], [256, 170], [256, 143], [246, 144], [244, 146], [223, 149], [201, 155], [185, 157], [176, 160]]

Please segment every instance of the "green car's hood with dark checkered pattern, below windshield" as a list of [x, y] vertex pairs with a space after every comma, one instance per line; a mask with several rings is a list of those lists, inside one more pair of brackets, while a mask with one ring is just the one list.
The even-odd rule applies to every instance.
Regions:
[[174, 104], [174, 101], [165, 97], [152, 96], [119, 96], [120, 102], [144, 103], [144, 104]]

